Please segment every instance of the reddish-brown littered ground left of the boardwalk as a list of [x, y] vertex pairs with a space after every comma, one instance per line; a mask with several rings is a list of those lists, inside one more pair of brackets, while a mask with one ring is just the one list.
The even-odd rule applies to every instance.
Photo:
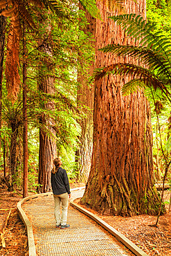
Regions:
[[[2, 247], [0, 240], [0, 255], [28, 256], [28, 239], [24, 224], [17, 212], [17, 202], [22, 199], [19, 192], [7, 192], [0, 186], [0, 230], [3, 231], [6, 248]], [[2, 210], [15, 208], [15, 210]], [[4, 228], [6, 218], [10, 212], [7, 226]]]

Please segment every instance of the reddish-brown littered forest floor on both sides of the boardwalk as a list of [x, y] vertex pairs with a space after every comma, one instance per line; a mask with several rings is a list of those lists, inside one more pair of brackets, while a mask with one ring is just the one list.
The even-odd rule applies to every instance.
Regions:
[[[71, 188], [83, 186], [84, 184], [71, 183]], [[31, 195], [33, 193], [30, 193]], [[165, 192], [165, 199], [168, 200], [170, 192]], [[2, 248], [0, 241], [0, 256], [28, 256], [28, 240], [24, 224], [17, 213], [17, 202], [22, 199], [21, 191], [7, 192], [7, 187], [0, 181], [0, 231], [3, 230], [6, 248]], [[79, 204], [79, 199], [76, 201]], [[82, 207], [86, 208], [84, 205]], [[10, 217], [7, 226], [3, 229], [10, 210]], [[168, 210], [168, 205], [166, 205]], [[159, 218], [158, 227], [153, 224], [156, 217], [139, 215], [135, 217], [105, 217], [97, 212], [87, 209], [93, 214], [109, 223], [116, 230], [123, 233], [134, 244], [142, 248], [148, 255], [171, 255], [171, 212], [167, 212]]]

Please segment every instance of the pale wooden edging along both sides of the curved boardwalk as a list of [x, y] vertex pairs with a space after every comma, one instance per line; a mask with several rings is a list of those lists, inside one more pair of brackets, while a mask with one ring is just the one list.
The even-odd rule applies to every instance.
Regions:
[[[75, 190], [82, 190], [85, 187], [81, 187], [81, 188], [73, 188], [71, 189], [71, 191], [75, 191]], [[21, 220], [23, 221], [24, 225], [26, 226], [27, 229], [27, 235], [28, 235], [28, 250], [29, 250], [29, 256], [36, 256], [36, 248], [35, 248], [35, 239], [34, 239], [34, 235], [33, 235], [33, 226], [32, 223], [29, 221], [28, 217], [26, 216], [26, 213], [24, 212], [24, 210], [21, 208], [21, 205], [25, 202], [25, 201], [29, 201], [31, 199], [35, 199], [38, 196], [48, 196], [53, 194], [52, 192], [47, 192], [47, 193], [42, 193], [42, 194], [35, 194], [33, 196], [27, 196], [24, 199], [21, 199], [21, 201], [19, 201], [17, 203], [17, 210], [19, 212], [19, 216], [21, 218]], [[75, 199], [74, 199], [75, 200]], [[148, 256], [147, 253], [143, 252], [143, 250], [141, 250], [140, 248], [138, 248], [138, 246], [136, 246], [134, 243], [132, 243], [132, 241], [130, 241], [129, 239], [127, 239], [127, 237], [125, 237], [123, 234], [121, 234], [120, 232], [118, 232], [118, 230], [114, 229], [113, 227], [111, 227], [108, 223], [106, 223], [105, 221], [103, 221], [102, 219], [100, 219], [99, 217], [97, 217], [95, 214], [89, 212], [88, 210], [82, 208], [80, 205], [76, 204], [73, 202], [73, 200], [70, 201], [70, 204], [80, 210], [80, 212], [83, 212], [84, 214], [86, 214], [88, 217], [90, 217], [91, 219], [93, 219], [94, 221], [96, 221], [98, 224], [100, 224], [100, 226], [102, 226], [103, 228], [105, 228], [105, 230], [107, 230], [108, 232], [111, 233], [111, 235], [114, 235], [114, 237], [116, 237], [116, 239], [118, 239], [118, 241], [121, 241], [127, 248], [129, 248], [129, 250], [131, 250], [135, 255], [137, 256]]]

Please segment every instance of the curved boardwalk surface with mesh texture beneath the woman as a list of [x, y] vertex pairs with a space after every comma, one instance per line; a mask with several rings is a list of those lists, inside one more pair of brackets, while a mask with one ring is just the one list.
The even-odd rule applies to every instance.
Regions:
[[[81, 197], [83, 193], [84, 190], [73, 191], [71, 199]], [[51, 193], [24, 201], [22, 208], [33, 225], [37, 255], [134, 255], [107, 230], [75, 210], [71, 204], [68, 212], [70, 228], [55, 228], [54, 201]]]

